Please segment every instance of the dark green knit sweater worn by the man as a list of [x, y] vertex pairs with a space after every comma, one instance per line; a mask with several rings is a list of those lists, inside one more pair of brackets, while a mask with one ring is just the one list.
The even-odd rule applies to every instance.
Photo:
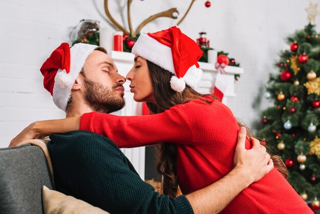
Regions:
[[185, 196], [159, 196], [110, 139], [85, 131], [54, 134], [50, 139], [58, 191], [112, 214], [193, 213]]

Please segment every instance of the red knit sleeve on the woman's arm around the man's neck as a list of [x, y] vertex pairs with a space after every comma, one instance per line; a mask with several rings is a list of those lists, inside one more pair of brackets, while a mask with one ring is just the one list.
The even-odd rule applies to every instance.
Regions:
[[80, 130], [106, 136], [125, 148], [162, 142], [193, 144], [192, 122], [184, 111], [174, 106], [163, 113], [144, 116], [86, 113], [81, 117]]

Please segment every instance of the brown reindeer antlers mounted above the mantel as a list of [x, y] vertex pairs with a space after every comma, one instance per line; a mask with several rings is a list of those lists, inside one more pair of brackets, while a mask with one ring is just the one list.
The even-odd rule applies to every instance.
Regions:
[[[191, 4], [188, 8], [188, 10], [186, 11], [185, 15], [182, 16], [182, 18], [179, 20], [179, 22], [176, 24], [176, 25], [180, 25], [181, 22], [185, 19], [185, 17], [187, 16], [187, 14], [189, 13], [190, 11], [190, 8], [192, 7], [193, 3], [195, 2], [196, 0], [192, 0], [191, 1]], [[177, 16], [174, 15], [174, 13], [178, 13], [178, 10], [176, 8], [171, 8], [167, 11], [163, 11], [163, 12], [160, 12], [160, 13], [157, 13], [157, 14], [154, 14], [152, 16], [150, 16], [149, 18], [147, 18], [146, 20], [144, 20], [139, 26], [138, 28], [136, 28], [135, 31], [133, 31], [132, 29], [132, 25], [131, 25], [131, 16], [130, 16], [130, 5], [132, 3], [132, 0], [128, 0], [128, 3], [127, 3], [127, 12], [128, 12], [128, 25], [129, 25], [129, 31], [128, 32], [124, 27], [122, 27], [110, 14], [109, 12], [109, 8], [108, 8], [108, 0], [104, 0], [104, 10], [105, 10], [105, 13], [107, 15], [107, 17], [110, 19], [110, 22], [113, 23], [115, 26], [117, 26], [121, 31], [123, 31], [125, 34], [129, 34], [131, 33], [131, 36], [132, 37], [135, 37], [136, 34], [140, 33], [141, 29], [147, 25], [149, 22], [153, 21], [154, 19], [156, 18], [159, 18], [159, 17], [169, 17], [169, 18], [178, 18]]]

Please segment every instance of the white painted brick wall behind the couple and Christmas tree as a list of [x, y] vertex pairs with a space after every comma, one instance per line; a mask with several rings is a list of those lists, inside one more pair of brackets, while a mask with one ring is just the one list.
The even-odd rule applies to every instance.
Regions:
[[[109, 2], [111, 13], [122, 23], [119, 11], [124, 0]], [[171, 7], [177, 7], [182, 15], [190, 2], [135, 0], [131, 6], [133, 28], [150, 15]], [[206, 31], [212, 47], [241, 62], [245, 74], [236, 83], [237, 97], [229, 98], [228, 105], [250, 125], [260, 111], [252, 107], [256, 97], [261, 96], [259, 88], [266, 83], [268, 73], [276, 71], [272, 65], [278, 52], [288, 48], [284, 37], [307, 24], [304, 8], [309, 1], [211, 0], [211, 8], [205, 8], [204, 2], [194, 3], [180, 28], [192, 38]], [[43, 89], [39, 68], [62, 41], [70, 42], [68, 34], [80, 19], [101, 20], [101, 27], [107, 27], [104, 17], [103, 0], [0, 1], [0, 147], [7, 146], [35, 120], [64, 117]], [[143, 30], [156, 31], [174, 24], [176, 20], [160, 18]], [[316, 24], [319, 31], [320, 17]], [[269, 103], [263, 99], [261, 109], [266, 105]]]

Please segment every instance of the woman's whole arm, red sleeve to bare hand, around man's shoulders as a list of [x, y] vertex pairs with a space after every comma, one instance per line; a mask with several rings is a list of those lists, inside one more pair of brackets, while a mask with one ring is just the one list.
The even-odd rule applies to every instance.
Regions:
[[40, 134], [51, 135], [75, 130], [106, 136], [119, 147], [139, 147], [160, 142], [185, 144], [192, 143], [193, 138], [188, 117], [174, 106], [164, 113], [147, 116], [117, 116], [91, 112], [81, 117], [36, 121], [18, 134], [10, 146], [34, 139]]

